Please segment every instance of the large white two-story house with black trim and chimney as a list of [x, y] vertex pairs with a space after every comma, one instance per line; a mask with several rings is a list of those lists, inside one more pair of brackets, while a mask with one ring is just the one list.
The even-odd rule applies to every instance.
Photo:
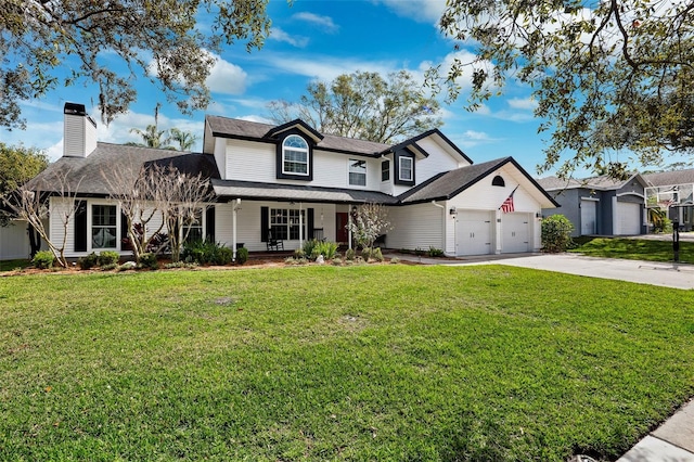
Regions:
[[[473, 164], [437, 129], [390, 145], [323, 134], [299, 119], [273, 126], [207, 116], [203, 152], [181, 153], [98, 142], [79, 104], [67, 103], [64, 117], [64, 155], [30, 184], [50, 191], [55, 172], [73, 179], [78, 214], [66, 230], [50, 223], [51, 240], [65, 238], [68, 257], [129, 254], [121, 246], [125, 220], [104, 178], [132, 169], [132, 159], [209, 177], [215, 202], [201, 213], [196, 234], [250, 252], [267, 251], [269, 240], [285, 249], [313, 238], [349, 245], [346, 226], [364, 203], [387, 206], [389, 248], [534, 252], [541, 245], [541, 210], [558, 205], [512, 157]], [[51, 210], [61, 201], [52, 197]]]

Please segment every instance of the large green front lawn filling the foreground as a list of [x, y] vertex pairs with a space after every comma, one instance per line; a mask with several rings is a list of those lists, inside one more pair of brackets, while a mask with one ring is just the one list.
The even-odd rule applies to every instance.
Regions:
[[686, 291], [501, 266], [0, 282], [0, 460], [616, 459], [694, 394]]

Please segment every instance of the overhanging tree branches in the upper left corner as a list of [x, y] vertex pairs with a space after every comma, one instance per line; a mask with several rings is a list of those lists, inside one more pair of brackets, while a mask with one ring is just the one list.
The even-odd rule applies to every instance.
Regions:
[[[220, 46], [259, 49], [269, 35], [268, 0], [155, 2], [5, 0], [0, 13], [0, 126], [23, 128], [20, 101], [78, 82], [99, 86], [107, 124], [137, 100], [138, 74], [184, 113], [209, 102], [206, 79]], [[201, 24], [202, 23], [202, 24]], [[127, 72], [113, 70], [114, 60]], [[76, 60], [76, 62], [75, 62]], [[64, 76], [63, 69], [68, 69]]]

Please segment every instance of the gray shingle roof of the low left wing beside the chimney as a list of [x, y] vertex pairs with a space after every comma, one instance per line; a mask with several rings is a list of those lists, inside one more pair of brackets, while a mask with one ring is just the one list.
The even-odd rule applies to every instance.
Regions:
[[57, 192], [55, 176], [65, 177], [70, 193], [93, 196], [110, 194], [108, 175], [113, 171], [136, 178], [142, 166], [151, 163], [174, 165], [181, 172], [219, 178], [214, 156], [180, 151], [121, 144], [98, 143], [97, 149], [82, 157], [61, 157], [27, 183], [34, 190]]

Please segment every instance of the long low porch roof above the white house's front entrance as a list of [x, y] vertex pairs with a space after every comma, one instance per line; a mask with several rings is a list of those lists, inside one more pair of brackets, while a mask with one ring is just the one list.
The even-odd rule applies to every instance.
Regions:
[[395, 205], [397, 197], [380, 191], [360, 191], [340, 188], [307, 187], [301, 184], [274, 184], [253, 181], [214, 179], [213, 188], [218, 197], [253, 201], [321, 202], [352, 204], [373, 202]]

